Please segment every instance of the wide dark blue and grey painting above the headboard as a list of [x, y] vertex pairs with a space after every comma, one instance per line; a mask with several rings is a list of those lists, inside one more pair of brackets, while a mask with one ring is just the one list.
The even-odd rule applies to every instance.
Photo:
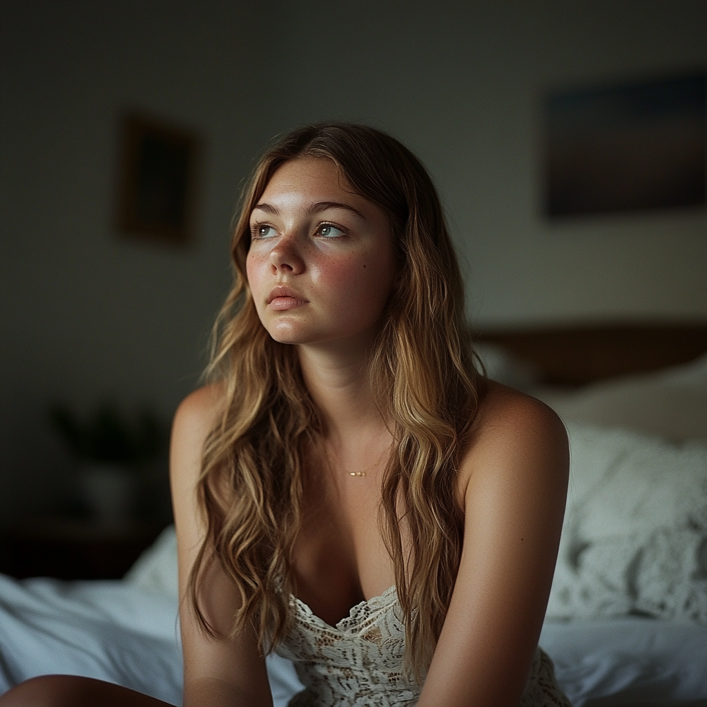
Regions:
[[545, 98], [545, 212], [705, 204], [706, 73], [555, 90]]

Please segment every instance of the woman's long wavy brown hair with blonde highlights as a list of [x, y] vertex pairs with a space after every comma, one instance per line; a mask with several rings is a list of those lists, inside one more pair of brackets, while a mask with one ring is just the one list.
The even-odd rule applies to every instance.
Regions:
[[484, 378], [474, 365], [462, 277], [433, 182], [406, 147], [371, 127], [296, 129], [264, 154], [243, 190], [231, 247], [235, 282], [214, 327], [208, 369], [223, 404], [197, 484], [206, 538], [189, 577], [190, 601], [215, 635], [199, 583], [216, 560], [240, 595], [233, 635], [254, 630], [266, 653], [288, 631], [306, 460], [322, 442], [322, 424], [296, 346], [271, 339], [258, 318], [245, 261], [252, 209], [275, 170], [303, 157], [333, 160], [392, 229], [397, 286], [369, 361], [371, 388], [394, 438], [379, 525], [395, 568], [406, 671], [422, 682], [460, 562], [464, 518], [455, 481]]

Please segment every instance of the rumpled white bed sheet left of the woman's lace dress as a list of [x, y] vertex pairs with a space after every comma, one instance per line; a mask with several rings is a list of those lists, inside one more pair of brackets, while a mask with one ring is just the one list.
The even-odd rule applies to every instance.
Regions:
[[[268, 657], [274, 707], [302, 689], [291, 663]], [[69, 674], [182, 703], [175, 597], [122, 580], [64, 582], [0, 575], [0, 694], [30, 677]]]

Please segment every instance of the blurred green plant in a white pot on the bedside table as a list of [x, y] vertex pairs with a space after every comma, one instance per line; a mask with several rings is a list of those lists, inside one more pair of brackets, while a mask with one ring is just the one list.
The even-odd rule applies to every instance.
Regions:
[[100, 522], [129, 518], [141, 472], [164, 447], [166, 435], [155, 414], [144, 409], [129, 419], [115, 404], [105, 403], [81, 419], [59, 404], [50, 418], [78, 463], [78, 493], [91, 515]]

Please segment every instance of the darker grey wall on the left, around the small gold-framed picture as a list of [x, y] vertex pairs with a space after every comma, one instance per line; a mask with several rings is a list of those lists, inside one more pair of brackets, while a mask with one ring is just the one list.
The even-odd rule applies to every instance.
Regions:
[[[170, 419], [196, 385], [240, 180], [274, 133], [253, 101], [279, 75], [255, 5], [1, 5], [0, 518], [69, 494], [50, 402], [152, 402]], [[115, 232], [116, 131], [132, 106], [204, 135], [192, 247]]]

